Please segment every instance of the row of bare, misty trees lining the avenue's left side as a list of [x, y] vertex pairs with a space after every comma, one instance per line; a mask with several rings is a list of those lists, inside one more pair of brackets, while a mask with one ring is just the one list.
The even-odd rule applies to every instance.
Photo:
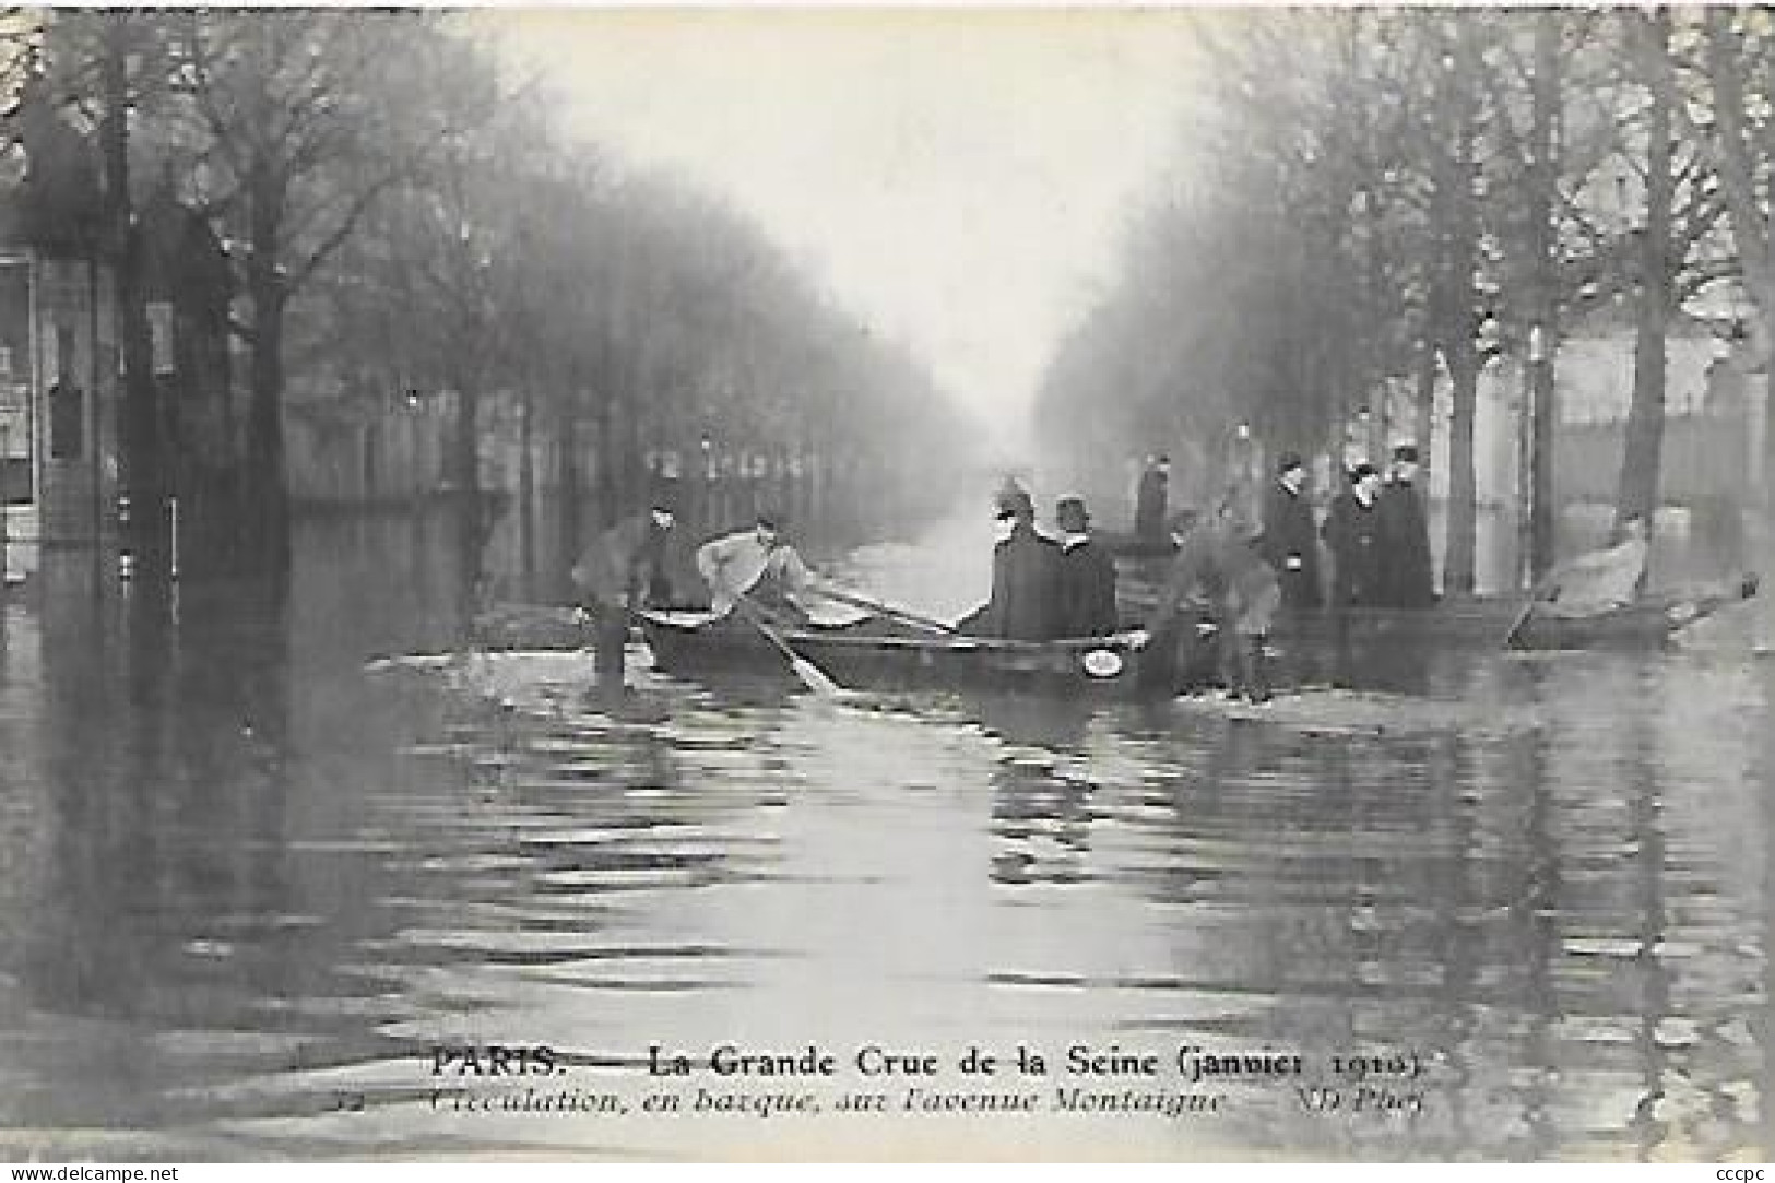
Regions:
[[[158, 405], [179, 393], [151, 373], [140, 215], [154, 202], [225, 259], [225, 332], [247, 357], [227, 536], [256, 570], [289, 563], [293, 387], [369, 403], [453, 393], [451, 483], [470, 499], [495, 398], [563, 455], [596, 437], [600, 488], [586, 492], [605, 515], [639, 496], [644, 451], [710, 435], [941, 467], [964, 433], [903, 353], [731, 210], [564, 142], [547, 115], [561, 105], [454, 20], [62, 9], [7, 28], [34, 238], [115, 275], [138, 506], [162, 504], [179, 460]], [[135, 528], [153, 574], [165, 520], [138, 512]]]

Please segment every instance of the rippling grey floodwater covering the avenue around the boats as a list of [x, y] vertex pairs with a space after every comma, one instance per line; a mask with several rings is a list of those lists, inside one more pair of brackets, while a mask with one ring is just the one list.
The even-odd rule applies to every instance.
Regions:
[[[1409, 693], [1255, 721], [832, 705], [637, 652], [664, 718], [612, 723], [582, 654], [451, 654], [437, 549], [311, 526], [280, 620], [188, 593], [131, 627], [53, 554], [0, 607], [0, 1156], [1775, 1149], [1771, 680], [1729, 620], [1427, 647]], [[951, 529], [852, 570], [953, 611], [982, 556]]]

